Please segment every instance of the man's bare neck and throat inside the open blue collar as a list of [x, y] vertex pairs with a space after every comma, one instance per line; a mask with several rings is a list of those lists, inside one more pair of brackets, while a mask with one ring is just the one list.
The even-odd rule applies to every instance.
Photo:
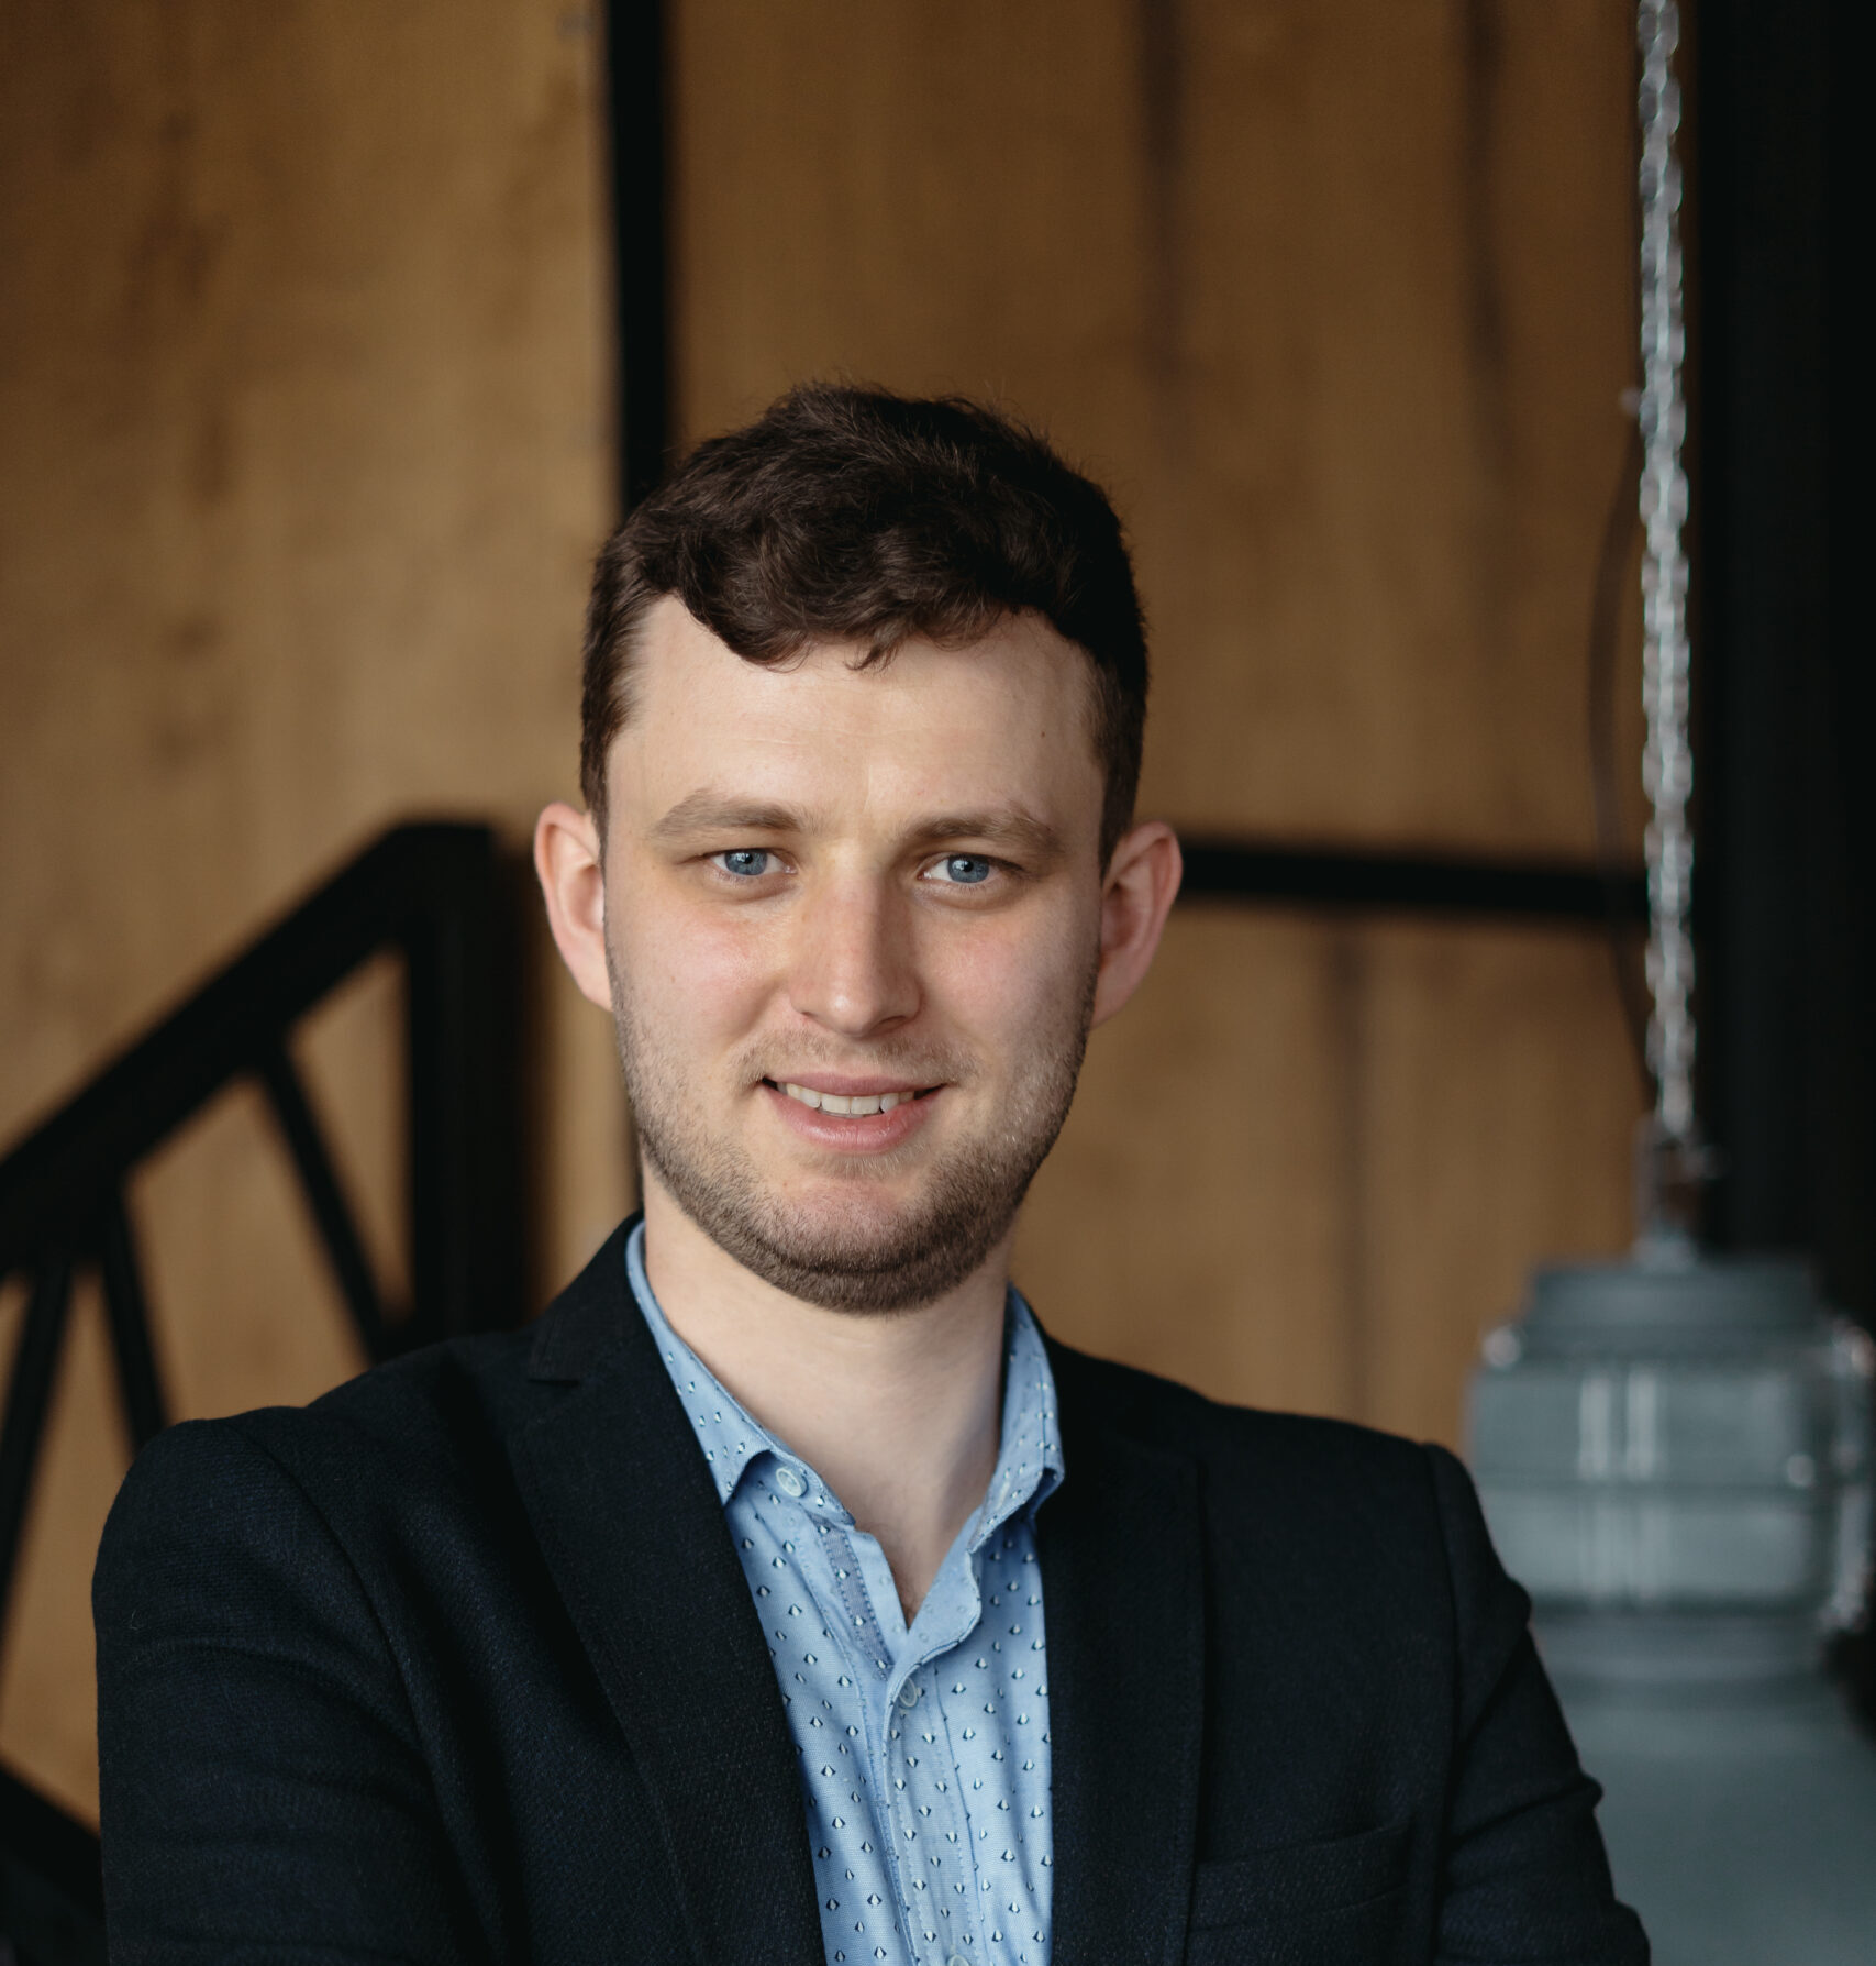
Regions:
[[646, 1172], [644, 1266], [660, 1309], [878, 1537], [908, 1624], [996, 1471], [1008, 1260], [1006, 1237], [915, 1311], [827, 1311], [745, 1270]]

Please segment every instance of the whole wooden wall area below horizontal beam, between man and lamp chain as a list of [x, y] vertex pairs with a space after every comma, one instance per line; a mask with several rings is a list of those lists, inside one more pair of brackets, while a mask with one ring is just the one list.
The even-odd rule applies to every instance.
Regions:
[[1628, 1233], [1607, 967], [1577, 930], [1177, 914], [1094, 1034], [1018, 1282], [1210, 1398], [1460, 1447], [1532, 1260]]

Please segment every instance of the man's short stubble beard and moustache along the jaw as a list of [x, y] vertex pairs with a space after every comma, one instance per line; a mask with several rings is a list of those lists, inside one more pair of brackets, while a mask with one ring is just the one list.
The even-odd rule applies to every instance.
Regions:
[[[668, 1050], [636, 1014], [611, 948], [607, 973], [638, 1146], [678, 1207], [776, 1290], [829, 1311], [876, 1313], [917, 1309], [945, 1296], [1008, 1235], [1075, 1099], [1094, 1012], [1096, 963], [1090, 959], [1078, 999], [1067, 999], [1059, 1020], [1037, 1034], [994, 1128], [945, 1148], [913, 1197], [898, 1207], [884, 1201], [884, 1189], [906, 1156], [921, 1152], [919, 1140], [843, 1166], [837, 1203], [815, 1209], [790, 1205], [739, 1140], [711, 1136], [699, 1103], [686, 1097], [670, 1070]], [[904, 1071], [911, 1083], [947, 1089], [972, 1071], [966, 1058], [890, 1040], [870, 1046], [868, 1060], [882, 1071]], [[851, 1052], [841, 1062], [851, 1066]], [[788, 1064], [801, 1068], [809, 1060], [796, 1048]], [[754, 1083], [758, 1073], [760, 1062], [750, 1060], [741, 1083]]]

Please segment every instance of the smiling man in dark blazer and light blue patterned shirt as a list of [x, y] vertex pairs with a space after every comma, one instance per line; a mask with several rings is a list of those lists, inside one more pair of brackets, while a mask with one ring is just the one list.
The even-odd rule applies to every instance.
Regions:
[[798, 391], [609, 543], [536, 865], [644, 1215], [138, 1463], [116, 1958], [1646, 1958], [1458, 1463], [1010, 1288], [1179, 885], [1145, 680], [1108, 501], [970, 405]]

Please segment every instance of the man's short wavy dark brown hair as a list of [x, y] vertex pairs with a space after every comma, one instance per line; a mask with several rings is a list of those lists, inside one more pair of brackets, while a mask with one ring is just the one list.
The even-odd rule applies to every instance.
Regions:
[[1092, 668], [1102, 865], [1131, 824], [1147, 641], [1126, 539], [1100, 486], [1010, 417], [811, 383], [699, 444], [593, 570], [579, 788], [601, 826], [633, 641], [666, 594], [750, 663], [856, 641], [866, 666], [915, 635], [966, 647], [1033, 609]]

